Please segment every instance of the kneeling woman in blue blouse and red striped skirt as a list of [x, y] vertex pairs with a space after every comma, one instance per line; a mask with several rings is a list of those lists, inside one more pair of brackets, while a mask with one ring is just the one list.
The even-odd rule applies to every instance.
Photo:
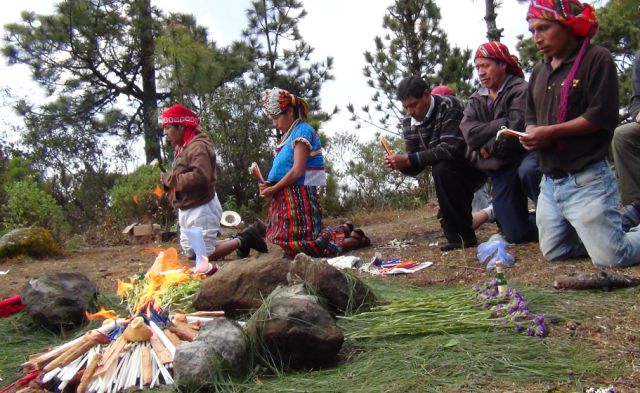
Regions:
[[260, 184], [260, 196], [271, 198], [267, 239], [289, 258], [300, 252], [332, 257], [368, 246], [370, 240], [364, 232], [350, 223], [322, 227], [318, 187], [326, 185], [326, 173], [320, 136], [306, 122], [309, 104], [274, 87], [263, 92], [262, 105], [273, 126], [284, 133], [269, 176]]

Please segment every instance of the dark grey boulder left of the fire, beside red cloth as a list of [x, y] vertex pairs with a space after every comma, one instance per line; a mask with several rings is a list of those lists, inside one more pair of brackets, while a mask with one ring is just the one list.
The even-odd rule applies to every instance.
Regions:
[[95, 307], [98, 288], [80, 273], [47, 273], [27, 281], [20, 297], [36, 322], [59, 330], [84, 321], [85, 311]]

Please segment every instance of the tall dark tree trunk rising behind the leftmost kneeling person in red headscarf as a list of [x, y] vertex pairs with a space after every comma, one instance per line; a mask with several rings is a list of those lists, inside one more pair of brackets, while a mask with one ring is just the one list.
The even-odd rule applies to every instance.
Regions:
[[135, 3], [139, 15], [139, 31], [141, 44], [142, 75], [142, 122], [144, 134], [144, 151], [147, 163], [160, 160], [160, 138], [162, 132], [158, 127], [158, 101], [156, 94], [156, 66], [154, 61], [155, 38], [153, 35], [153, 18], [151, 0], [137, 0]]

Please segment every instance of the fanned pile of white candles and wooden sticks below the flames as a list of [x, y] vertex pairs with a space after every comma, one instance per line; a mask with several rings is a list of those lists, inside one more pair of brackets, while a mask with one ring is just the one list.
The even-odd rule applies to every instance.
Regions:
[[55, 391], [77, 386], [78, 393], [103, 393], [171, 385], [176, 348], [193, 341], [202, 323], [219, 316], [224, 312], [163, 316], [150, 307], [144, 316], [107, 320], [82, 337], [32, 355], [22, 366], [37, 373], [34, 379], [41, 387]]

